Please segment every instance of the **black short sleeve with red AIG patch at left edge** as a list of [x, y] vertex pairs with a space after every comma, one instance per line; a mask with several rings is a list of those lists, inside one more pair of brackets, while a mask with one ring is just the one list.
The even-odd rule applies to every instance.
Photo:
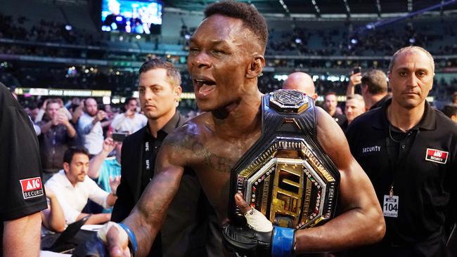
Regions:
[[[32, 121], [0, 83], [0, 253], [3, 222], [46, 209]], [[18, 231], [20, 233], [20, 231]], [[27, 239], [24, 238], [24, 242]]]

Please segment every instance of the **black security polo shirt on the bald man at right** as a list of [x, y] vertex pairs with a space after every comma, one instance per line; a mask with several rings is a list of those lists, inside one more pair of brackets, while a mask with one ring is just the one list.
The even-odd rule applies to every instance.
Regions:
[[456, 220], [451, 209], [457, 204], [457, 125], [425, 103], [419, 124], [402, 133], [387, 120], [391, 102], [354, 119], [346, 131], [380, 204], [392, 184], [399, 197], [398, 217], [385, 217], [385, 238], [364, 254], [440, 256], [444, 224]]

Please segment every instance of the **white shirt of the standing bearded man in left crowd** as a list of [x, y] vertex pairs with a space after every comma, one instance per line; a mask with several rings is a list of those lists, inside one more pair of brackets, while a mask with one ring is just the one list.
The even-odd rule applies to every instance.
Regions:
[[103, 149], [103, 129], [101, 122], [92, 124], [94, 117], [84, 112], [78, 120], [78, 134], [89, 154], [98, 154]]

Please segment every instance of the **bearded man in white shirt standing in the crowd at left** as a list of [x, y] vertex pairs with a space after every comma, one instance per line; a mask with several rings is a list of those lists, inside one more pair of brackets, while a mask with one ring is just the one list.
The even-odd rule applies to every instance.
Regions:
[[101, 152], [103, 148], [103, 128], [101, 121], [105, 119], [106, 113], [98, 110], [94, 98], [87, 98], [84, 101], [84, 113], [79, 117], [78, 133], [82, 138], [84, 147], [91, 156]]

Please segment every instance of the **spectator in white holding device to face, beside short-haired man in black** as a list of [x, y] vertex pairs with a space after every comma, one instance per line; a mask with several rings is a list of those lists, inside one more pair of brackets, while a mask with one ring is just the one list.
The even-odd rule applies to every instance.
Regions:
[[138, 109], [138, 101], [136, 98], [129, 98], [125, 102], [125, 112], [118, 114], [111, 123], [114, 131], [128, 131], [129, 133], [135, 133], [139, 129], [146, 126], [148, 118], [141, 113], [136, 112]]

